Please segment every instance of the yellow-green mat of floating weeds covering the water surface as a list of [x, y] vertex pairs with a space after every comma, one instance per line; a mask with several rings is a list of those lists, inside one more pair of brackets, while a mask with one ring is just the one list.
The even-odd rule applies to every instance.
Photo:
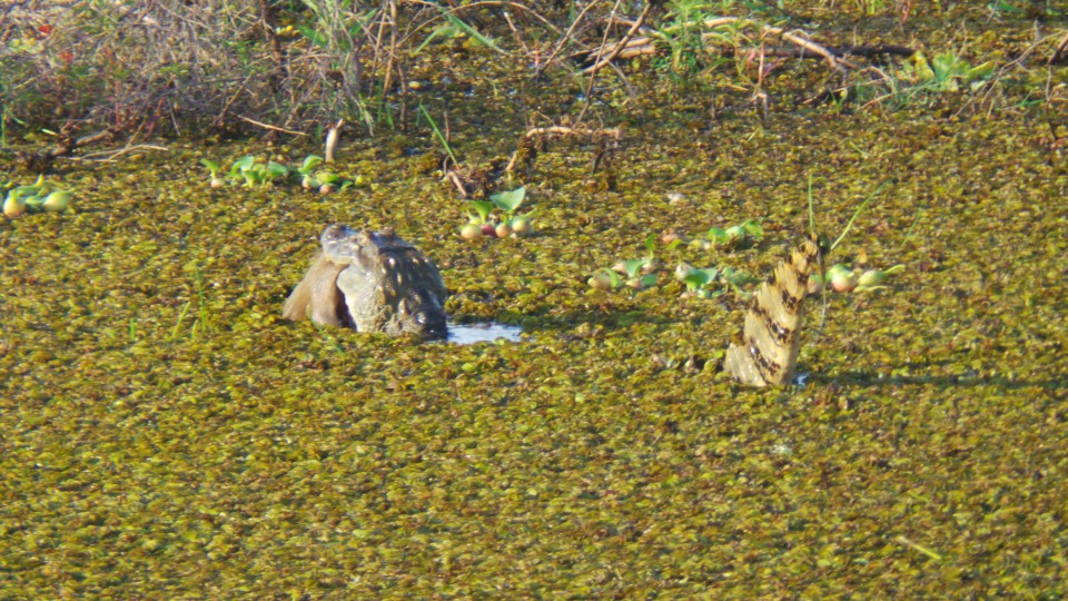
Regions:
[[[1068, 168], [1041, 107], [842, 115], [779, 86], [767, 127], [653, 92], [607, 112], [614, 189], [554, 142], [514, 183], [538, 209], [522, 239], [457, 235], [466, 203], [409, 157], [439, 148], [426, 127], [350, 141], [339, 170], [370, 184], [326, 197], [211, 190], [198, 162], [312, 147], [61, 162], [73, 214], [0, 223], [0, 598], [1068, 594]], [[454, 149], [506, 156], [521, 116], [474, 104]], [[907, 269], [828, 296], [805, 386], [739, 387], [743, 305], [680, 298], [671, 270], [765, 277], [810, 177], [832, 236], [886, 183], [830, 263]], [[649, 234], [746, 218], [753, 248], [657, 244], [659, 285], [586, 285]], [[281, 321], [334, 221], [395, 226], [453, 318], [524, 339]]]

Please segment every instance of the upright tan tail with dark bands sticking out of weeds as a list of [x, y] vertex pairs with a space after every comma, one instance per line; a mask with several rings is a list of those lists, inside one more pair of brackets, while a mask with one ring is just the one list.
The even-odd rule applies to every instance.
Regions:
[[804, 240], [790, 258], [775, 267], [774, 280], [764, 282], [745, 312], [741, 338], [731, 343], [723, 370], [750, 386], [779, 386], [790, 382], [801, 348], [801, 322], [809, 274], [823, 269], [825, 238]]

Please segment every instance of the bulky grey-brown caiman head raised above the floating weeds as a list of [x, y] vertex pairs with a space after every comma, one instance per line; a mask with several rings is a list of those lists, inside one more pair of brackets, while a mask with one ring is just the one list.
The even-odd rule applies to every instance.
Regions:
[[327, 226], [322, 252], [294, 288], [283, 316], [389, 335], [444, 338], [442, 275], [416, 247], [384, 231]]

